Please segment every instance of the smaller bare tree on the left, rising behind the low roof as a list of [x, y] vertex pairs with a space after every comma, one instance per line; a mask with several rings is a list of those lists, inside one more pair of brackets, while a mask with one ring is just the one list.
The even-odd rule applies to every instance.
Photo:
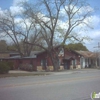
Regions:
[[30, 36], [34, 38], [31, 43], [36, 43], [39, 35], [34, 21], [27, 19], [23, 14], [13, 15], [11, 11], [7, 10], [4, 15], [0, 15], [0, 32], [2, 37], [8, 36], [14, 42], [20, 56], [29, 56], [33, 45], [25, 44], [29, 41]]

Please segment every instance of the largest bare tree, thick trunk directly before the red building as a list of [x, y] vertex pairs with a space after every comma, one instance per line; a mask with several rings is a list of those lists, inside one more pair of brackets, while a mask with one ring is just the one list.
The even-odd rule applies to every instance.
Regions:
[[[24, 4], [24, 7], [26, 8], [26, 15], [34, 19], [35, 23], [40, 27], [41, 36], [46, 44], [34, 45], [48, 52], [54, 70], [58, 70], [58, 54], [66, 41], [69, 38], [77, 41], [84, 39], [84, 37], [79, 37], [75, 33], [75, 29], [85, 25], [89, 26], [86, 22], [86, 18], [91, 13], [91, 10], [86, 9], [89, 6], [86, 5], [84, 0], [39, 0], [35, 6]], [[37, 8], [38, 10], [36, 10]], [[85, 12], [82, 12], [82, 10]], [[58, 49], [55, 48], [55, 42], [59, 42]], [[31, 43], [28, 42], [28, 44]]]

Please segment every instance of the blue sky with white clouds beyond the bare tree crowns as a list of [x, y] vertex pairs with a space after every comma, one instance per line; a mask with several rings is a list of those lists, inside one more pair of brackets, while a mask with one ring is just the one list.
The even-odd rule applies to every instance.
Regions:
[[[16, 7], [17, 2], [25, 0], [0, 0], [0, 11], [5, 9], [11, 9], [13, 12], [18, 11]], [[33, 1], [33, 0], [31, 0]], [[35, 1], [35, 0], [34, 0]], [[86, 0], [91, 8], [94, 10], [92, 14], [92, 27], [93, 29], [88, 30], [87, 34], [92, 39], [91, 41], [85, 42], [85, 46], [90, 51], [96, 51], [98, 43], [100, 45], [100, 0]], [[100, 48], [99, 48], [100, 49]]]

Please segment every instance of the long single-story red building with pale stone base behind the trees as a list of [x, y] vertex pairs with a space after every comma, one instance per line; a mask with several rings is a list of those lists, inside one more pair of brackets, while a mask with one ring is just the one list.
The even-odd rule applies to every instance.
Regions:
[[[59, 53], [59, 70], [97, 66], [96, 55], [90, 51], [74, 51], [62, 48]], [[13, 69], [53, 70], [52, 61], [46, 51], [33, 51], [29, 57], [21, 58], [18, 53], [0, 53], [0, 60], [12, 61]]]

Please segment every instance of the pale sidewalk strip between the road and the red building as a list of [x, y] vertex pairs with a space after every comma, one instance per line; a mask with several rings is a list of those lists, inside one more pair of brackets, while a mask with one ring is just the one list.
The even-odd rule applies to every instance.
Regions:
[[20, 77], [20, 76], [41, 76], [41, 75], [68, 75], [68, 74], [77, 74], [77, 73], [92, 73], [97, 72], [98, 69], [73, 69], [73, 70], [63, 70], [58, 72], [46, 72], [46, 71], [22, 71], [22, 70], [10, 70], [9, 74], [0, 74], [0, 78], [5, 77]]

